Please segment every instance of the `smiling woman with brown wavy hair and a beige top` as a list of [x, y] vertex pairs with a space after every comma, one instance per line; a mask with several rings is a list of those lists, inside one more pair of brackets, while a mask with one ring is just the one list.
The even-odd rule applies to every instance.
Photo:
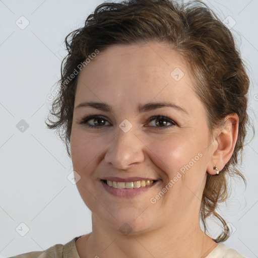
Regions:
[[[243, 178], [248, 121], [230, 31], [201, 3], [131, 0], [100, 5], [66, 43], [47, 125], [67, 145], [92, 232], [15, 257], [243, 257], [221, 243], [216, 213], [226, 177]], [[210, 215], [224, 229], [215, 239], [200, 225]]]

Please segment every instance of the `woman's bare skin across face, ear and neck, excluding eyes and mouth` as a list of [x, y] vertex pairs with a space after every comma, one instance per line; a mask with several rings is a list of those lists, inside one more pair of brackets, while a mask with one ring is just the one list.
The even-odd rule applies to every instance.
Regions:
[[[171, 72], [184, 76], [176, 81]], [[112, 112], [79, 107], [82, 102], [102, 102]], [[140, 104], [171, 102], [185, 109], [160, 107], [138, 112]], [[80, 124], [89, 115], [97, 119]], [[156, 124], [162, 115], [167, 122]], [[206, 257], [216, 246], [200, 228], [199, 214], [207, 173], [222, 170], [232, 156], [238, 130], [236, 114], [211, 136], [205, 106], [194, 91], [193, 78], [184, 59], [165, 43], [114, 45], [101, 51], [80, 72], [71, 133], [77, 187], [92, 212], [92, 233], [79, 238], [83, 257]], [[119, 124], [132, 124], [123, 132]], [[161, 122], [164, 122], [161, 119]], [[95, 125], [89, 128], [87, 125]], [[164, 128], [159, 129], [159, 128]], [[162, 198], [150, 202], [177, 172], [197, 155], [202, 157], [186, 170]], [[105, 190], [100, 179], [140, 176], [159, 181], [134, 197], [117, 197]], [[124, 223], [132, 230], [124, 235]]]

